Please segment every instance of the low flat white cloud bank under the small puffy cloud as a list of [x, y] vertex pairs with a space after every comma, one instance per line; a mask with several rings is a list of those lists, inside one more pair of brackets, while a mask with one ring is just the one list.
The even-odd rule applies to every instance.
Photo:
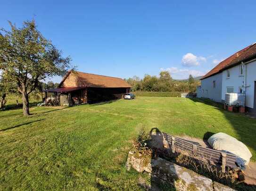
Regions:
[[202, 72], [199, 70], [178, 69], [177, 67], [171, 67], [171, 68], [167, 68], [167, 69], [161, 68], [161, 70], [169, 71], [173, 79], [187, 79], [190, 74], [193, 77], [203, 76], [206, 74], [205, 72]]

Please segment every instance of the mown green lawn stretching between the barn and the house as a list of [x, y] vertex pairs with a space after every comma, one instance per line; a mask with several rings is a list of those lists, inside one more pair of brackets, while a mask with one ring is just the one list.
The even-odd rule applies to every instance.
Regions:
[[0, 112], [0, 190], [140, 190], [125, 161], [140, 127], [203, 138], [224, 132], [256, 161], [256, 120], [212, 102], [138, 97], [76, 107]]

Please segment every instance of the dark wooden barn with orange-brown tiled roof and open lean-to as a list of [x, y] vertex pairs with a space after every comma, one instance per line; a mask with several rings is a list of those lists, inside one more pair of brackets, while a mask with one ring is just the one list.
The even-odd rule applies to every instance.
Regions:
[[73, 106], [122, 99], [130, 89], [122, 78], [69, 71], [58, 88], [44, 90], [44, 95], [56, 105]]

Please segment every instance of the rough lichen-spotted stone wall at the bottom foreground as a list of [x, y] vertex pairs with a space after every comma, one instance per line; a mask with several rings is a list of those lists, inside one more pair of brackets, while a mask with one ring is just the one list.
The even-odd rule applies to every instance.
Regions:
[[142, 153], [129, 152], [126, 168], [134, 168], [138, 172], [148, 172], [151, 177], [169, 183], [177, 191], [234, 191], [221, 183], [199, 175], [194, 171], [157, 157], [151, 159]]

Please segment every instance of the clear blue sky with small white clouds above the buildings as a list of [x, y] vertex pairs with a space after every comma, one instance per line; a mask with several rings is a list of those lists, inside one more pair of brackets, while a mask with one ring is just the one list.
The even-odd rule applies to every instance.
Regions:
[[0, 27], [35, 18], [79, 71], [106, 76], [161, 69], [175, 79], [200, 76], [256, 41], [255, 0], [9, 0], [0, 7]]

